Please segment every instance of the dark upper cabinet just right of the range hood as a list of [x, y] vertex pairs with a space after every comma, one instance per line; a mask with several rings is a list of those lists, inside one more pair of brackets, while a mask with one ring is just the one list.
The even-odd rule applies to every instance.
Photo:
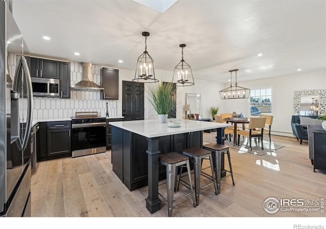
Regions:
[[112, 68], [101, 69], [101, 99], [119, 99], [119, 70]]

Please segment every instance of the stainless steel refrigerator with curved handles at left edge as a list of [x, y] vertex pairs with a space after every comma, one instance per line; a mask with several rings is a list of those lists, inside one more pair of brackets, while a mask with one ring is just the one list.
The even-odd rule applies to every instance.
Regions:
[[29, 50], [9, 3], [0, 0], [0, 216], [20, 217], [31, 216], [33, 92]]

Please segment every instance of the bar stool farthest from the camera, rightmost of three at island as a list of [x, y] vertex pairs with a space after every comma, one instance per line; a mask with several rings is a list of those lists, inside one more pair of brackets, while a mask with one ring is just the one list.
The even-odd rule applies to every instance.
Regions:
[[[220, 190], [221, 190], [221, 165], [222, 165], [221, 158], [222, 158], [222, 154], [227, 154], [228, 155], [230, 171], [226, 170], [226, 169], [224, 169], [224, 170], [230, 173], [228, 176], [231, 175], [232, 183], [233, 183], [233, 185], [235, 185], [234, 184], [234, 179], [233, 179], [233, 171], [232, 171], [229, 147], [225, 146], [225, 145], [217, 144], [217, 143], [210, 143], [210, 144], [204, 145], [203, 149], [209, 150], [213, 154], [215, 180], [216, 180], [216, 183], [217, 183], [217, 186], [218, 186], [219, 194], [220, 194]], [[226, 176], [226, 177], [228, 177], [228, 176]], [[224, 177], [224, 178], [226, 178], [226, 177]]]

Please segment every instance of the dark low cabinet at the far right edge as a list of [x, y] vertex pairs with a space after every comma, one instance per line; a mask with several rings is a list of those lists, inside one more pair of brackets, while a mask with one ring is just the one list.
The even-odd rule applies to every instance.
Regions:
[[314, 133], [314, 171], [326, 171], [326, 131], [316, 130]]

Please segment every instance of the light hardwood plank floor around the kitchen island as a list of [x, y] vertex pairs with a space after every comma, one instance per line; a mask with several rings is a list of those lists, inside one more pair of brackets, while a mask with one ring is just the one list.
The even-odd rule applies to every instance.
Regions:
[[[181, 198], [174, 203], [173, 216], [326, 216], [320, 211], [275, 214], [264, 211], [267, 197], [316, 200], [326, 195], [326, 173], [313, 172], [307, 141], [300, 145], [295, 138], [274, 135], [272, 141], [285, 147], [263, 156], [230, 149], [235, 186], [231, 177], [227, 177], [221, 182], [219, 195], [214, 194], [213, 186], [202, 189], [196, 208], [191, 196]], [[164, 184], [159, 190], [164, 192]], [[111, 151], [39, 162], [33, 172], [31, 191], [33, 217], [168, 216], [167, 203], [163, 200], [161, 210], [154, 214], [148, 212], [147, 187], [130, 192], [122, 184], [112, 171]]]

